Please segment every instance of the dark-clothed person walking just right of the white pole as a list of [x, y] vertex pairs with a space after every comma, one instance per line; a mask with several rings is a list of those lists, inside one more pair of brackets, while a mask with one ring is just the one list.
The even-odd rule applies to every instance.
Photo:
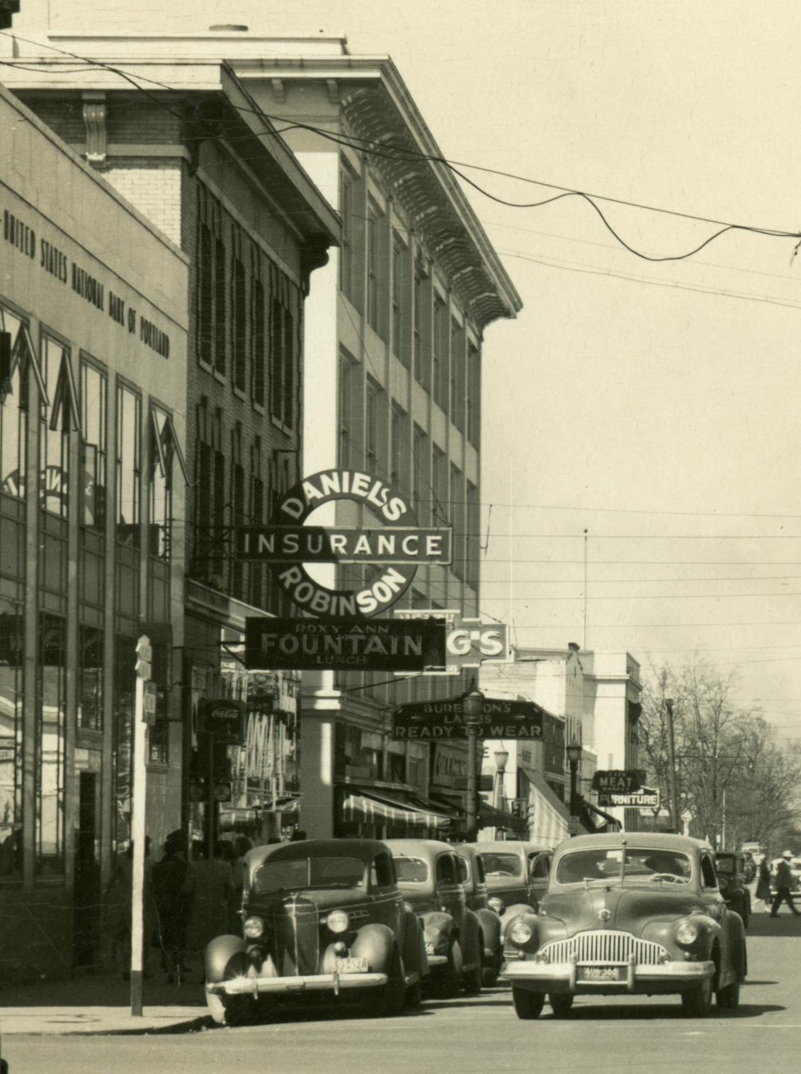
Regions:
[[157, 940], [168, 981], [184, 979], [187, 918], [192, 900], [192, 874], [187, 861], [188, 839], [178, 829], [166, 837], [164, 857], [152, 867]]

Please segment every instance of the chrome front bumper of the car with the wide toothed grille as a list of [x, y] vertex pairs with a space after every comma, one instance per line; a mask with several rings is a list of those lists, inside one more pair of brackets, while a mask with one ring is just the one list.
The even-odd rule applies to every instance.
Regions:
[[580, 981], [578, 962], [535, 962], [508, 960], [500, 977], [512, 985], [524, 985], [531, 991], [549, 992], [647, 992], [652, 989], [683, 991], [714, 976], [714, 962], [666, 962], [658, 966], [635, 962], [615, 963], [622, 971], [620, 981], [594, 978]]

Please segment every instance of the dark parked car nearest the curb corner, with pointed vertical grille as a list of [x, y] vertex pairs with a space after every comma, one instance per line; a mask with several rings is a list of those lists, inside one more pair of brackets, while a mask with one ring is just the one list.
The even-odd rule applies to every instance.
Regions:
[[422, 933], [385, 843], [259, 846], [245, 868], [243, 935], [217, 937], [205, 954], [215, 1021], [249, 1021], [278, 999], [312, 992], [332, 1000], [355, 993], [376, 1015], [420, 1002]]

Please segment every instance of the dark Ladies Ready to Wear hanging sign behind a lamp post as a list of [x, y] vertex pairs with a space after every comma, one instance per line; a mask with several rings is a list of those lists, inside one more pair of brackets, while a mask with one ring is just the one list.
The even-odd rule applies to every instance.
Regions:
[[[541, 739], [545, 710], [534, 701], [485, 697], [479, 738]], [[395, 739], [466, 739], [461, 700], [416, 701], [392, 714]]]

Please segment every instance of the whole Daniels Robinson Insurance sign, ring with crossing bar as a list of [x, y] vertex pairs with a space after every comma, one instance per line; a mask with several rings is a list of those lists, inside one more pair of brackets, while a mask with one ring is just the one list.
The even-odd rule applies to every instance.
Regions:
[[[306, 525], [318, 507], [337, 499], [368, 508], [382, 526]], [[403, 596], [421, 563], [451, 562], [451, 534], [450, 526], [418, 526], [406, 498], [380, 479], [361, 470], [329, 469], [304, 478], [285, 493], [270, 525], [237, 527], [233, 555], [238, 562], [273, 565], [283, 592], [312, 615], [369, 619]], [[309, 574], [306, 567], [315, 563], [372, 564], [387, 569], [359, 589], [335, 590]]]

